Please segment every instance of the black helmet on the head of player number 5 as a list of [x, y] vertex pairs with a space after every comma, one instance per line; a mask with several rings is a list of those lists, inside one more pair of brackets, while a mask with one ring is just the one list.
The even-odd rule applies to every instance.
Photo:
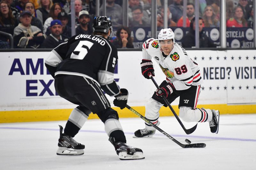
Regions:
[[112, 22], [108, 16], [97, 16], [93, 19], [93, 32], [112, 33]]

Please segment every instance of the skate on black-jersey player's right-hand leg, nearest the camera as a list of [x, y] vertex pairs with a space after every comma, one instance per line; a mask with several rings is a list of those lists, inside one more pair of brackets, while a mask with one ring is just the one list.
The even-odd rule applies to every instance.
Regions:
[[116, 154], [121, 160], [145, 158], [140, 148], [129, 146], [124, 142], [115, 142], [115, 138], [113, 137], [109, 137], [108, 140], [114, 145]]

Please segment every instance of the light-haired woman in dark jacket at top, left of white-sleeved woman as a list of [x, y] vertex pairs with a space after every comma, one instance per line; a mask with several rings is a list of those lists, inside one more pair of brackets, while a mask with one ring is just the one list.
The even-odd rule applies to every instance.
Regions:
[[52, 7], [52, 0], [40, 0], [39, 5], [41, 7], [36, 10], [36, 17], [44, 25], [44, 22], [48, 18], [49, 11]]

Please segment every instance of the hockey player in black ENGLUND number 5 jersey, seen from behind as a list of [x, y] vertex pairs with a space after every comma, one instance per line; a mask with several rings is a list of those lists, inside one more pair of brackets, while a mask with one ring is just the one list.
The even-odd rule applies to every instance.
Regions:
[[[57, 155], [82, 155], [84, 145], [73, 137], [86, 122], [89, 114], [97, 114], [105, 125], [109, 141], [120, 159], [143, 159], [143, 152], [126, 144], [118, 114], [102, 90], [115, 96], [114, 105], [123, 109], [128, 91], [119, 89], [114, 80], [117, 49], [110, 41], [112, 23], [107, 16], [97, 16], [93, 21], [93, 35], [79, 34], [71, 37], [51, 51], [45, 66], [55, 79], [58, 94], [79, 105], [70, 114], [60, 138]], [[101, 90], [102, 89], [102, 90]]]

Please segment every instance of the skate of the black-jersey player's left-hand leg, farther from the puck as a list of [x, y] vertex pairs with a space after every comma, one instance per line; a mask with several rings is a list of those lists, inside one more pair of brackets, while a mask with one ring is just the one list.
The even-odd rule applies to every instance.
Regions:
[[63, 132], [63, 127], [60, 126], [60, 138], [58, 143], [57, 155], [83, 155], [84, 145], [76, 142], [72, 137]]

